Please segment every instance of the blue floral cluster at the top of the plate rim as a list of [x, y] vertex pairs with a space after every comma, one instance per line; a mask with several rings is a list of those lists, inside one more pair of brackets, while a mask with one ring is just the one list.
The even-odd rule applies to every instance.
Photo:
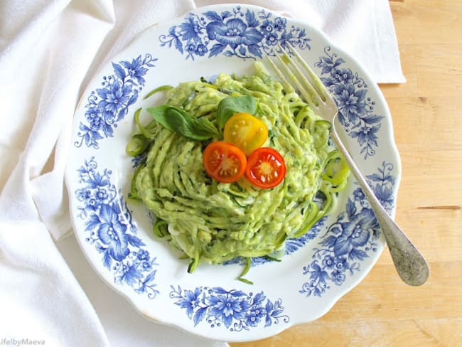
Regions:
[[175, 47], [186, 59], [197, 56], [214, 57], [224, 54], [237, 58], [262, 58], [272, 55], [272, 48], [280, 43], [286, 46], [309, 48], [306, 31], [288, 26], [287, 19], [271, 12], [243, 11], [236, 6], [232, 11], [207, 11], [202, 15], [187, 14], [184, 22], [171, 26], [168, 35], [159, 36], [161, 46]]

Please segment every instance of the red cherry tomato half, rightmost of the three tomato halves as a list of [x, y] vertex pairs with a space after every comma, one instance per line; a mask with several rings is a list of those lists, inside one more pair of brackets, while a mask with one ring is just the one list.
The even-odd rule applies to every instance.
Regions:
[[274, 188], [286, 176], [286, 164], [278, 151], [269, 147], [255, 149], [247, 159], [245, 176], [259, 188]]

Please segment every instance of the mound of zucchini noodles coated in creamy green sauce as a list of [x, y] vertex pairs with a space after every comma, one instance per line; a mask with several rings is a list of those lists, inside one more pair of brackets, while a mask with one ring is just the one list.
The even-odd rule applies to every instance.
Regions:
[[183, 82], [166, 92], [165, 104], [217, 127], [220, 100], [242, 95], [257, 99], [254, 116], [269, 130], [264, 146], [279, 151], [286, 162], [283, 183], [260, 189], [245, 178], [213, 181], [202, 153], [210, 142], [222, 140], [221, 131], [195, 141], [155, 121], [149, 124], [145, 162], [134, 178], [136, 195], [168, 225], [164, 238], [196, 263], [277, 255], [287, 238], [300, 237], [328, 211], [348, 176], [328, 142], [331, 124], [299, 95], [286, 94], [261, 63], [254, 75], [222, 73], [214, 82]]

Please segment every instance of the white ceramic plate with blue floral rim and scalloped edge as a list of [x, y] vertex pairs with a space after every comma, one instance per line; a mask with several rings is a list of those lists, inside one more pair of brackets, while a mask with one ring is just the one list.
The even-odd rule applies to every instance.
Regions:
[[[125, 145], [139, 107], [159, 85], [252, 73], [274, 43], [290, 41], [330, 88], [344, 139], [390, 213], [400, 178], [390, 112], [355, 60], [307, 23], [267, 9], [217, 5], [148, 28], [92, 79], [75, 113], [66, 183], [77, 240], [95, 271], [141, 314], [220, 341], [250, 341], [318, 319], [370, 271], [385, 245], [350, 179], [335, 210], [289, 240], [281, 262], [203, 265], [157, 240], [144, 208], [127, 201], [133, 163]], [[355, 309], [351, 307], [351, 309]]]

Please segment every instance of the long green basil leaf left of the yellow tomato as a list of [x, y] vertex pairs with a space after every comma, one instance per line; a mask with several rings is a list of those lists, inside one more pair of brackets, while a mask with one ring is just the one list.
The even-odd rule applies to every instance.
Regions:
[[195, 118], [185, 110], [171, 105], [149, 107], [147, 109], [154, 119], [172, 132], [197, 141], [218, 136], [217, 128], [210, 120]]

